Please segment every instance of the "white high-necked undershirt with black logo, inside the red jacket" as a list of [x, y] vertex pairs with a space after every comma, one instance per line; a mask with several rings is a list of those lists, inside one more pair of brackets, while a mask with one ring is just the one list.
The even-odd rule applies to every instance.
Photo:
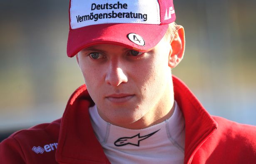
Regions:
[[107, 123], [99, 116], [96, 106], [89, 108], [94, 133], [109, 161], [112, 164], [183, 164], [185, 123], [178, 104], [174, 103], [174, 113], [169, 119], [139, 130]]

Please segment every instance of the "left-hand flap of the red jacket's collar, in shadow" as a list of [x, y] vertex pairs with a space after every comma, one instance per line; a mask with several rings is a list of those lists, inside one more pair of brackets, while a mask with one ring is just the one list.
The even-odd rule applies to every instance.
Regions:
[[56, 160], [61, 164], [108, 163], [104, 151], [94, 136], [89, 117], [94, 102], [86, 90], [79, 87], [70, 97], [60, 126]]

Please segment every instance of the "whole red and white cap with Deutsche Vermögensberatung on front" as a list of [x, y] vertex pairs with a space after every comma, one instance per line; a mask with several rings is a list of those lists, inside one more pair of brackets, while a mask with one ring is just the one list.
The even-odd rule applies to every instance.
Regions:
[[67, 56], [99, 43], [147, 51], [176, 19], [172, 0], [70, 0]]

